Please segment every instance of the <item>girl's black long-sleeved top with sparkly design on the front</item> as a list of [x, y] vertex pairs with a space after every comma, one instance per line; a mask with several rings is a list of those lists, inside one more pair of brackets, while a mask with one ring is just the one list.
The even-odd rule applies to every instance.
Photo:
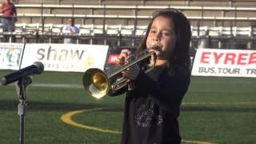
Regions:
[[110, 90], [110, 96], [127, 91], [121, 143], [180, 143], [177, 118], [189, 84], [190, 74], [181, 67], [168, 70], [157, 66], [148, 74], [138, 74], [134, 90]]

